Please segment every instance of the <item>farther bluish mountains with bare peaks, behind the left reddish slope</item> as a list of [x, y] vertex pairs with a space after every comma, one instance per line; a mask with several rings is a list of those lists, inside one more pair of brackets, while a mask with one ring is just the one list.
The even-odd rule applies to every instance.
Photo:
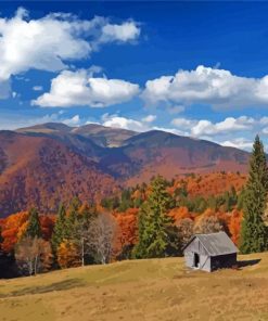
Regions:
[[170, 179], [186, 172], [245, 172], [247, 168], [244, 151], [159, 130], [137, 133], [95, 124], [72, 128], [48, 123], [17, 131], [58, 140], [129, 184], [149, 181], [157, 174]]

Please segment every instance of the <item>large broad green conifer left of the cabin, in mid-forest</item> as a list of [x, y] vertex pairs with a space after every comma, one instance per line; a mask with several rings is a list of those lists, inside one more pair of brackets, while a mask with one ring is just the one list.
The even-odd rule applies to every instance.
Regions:
[[139, 242], [133, 249], [137, 258], [164, 257], [178, 252], [178, 233], [167, 215], [173, 204], [167, 182], [156, 177], [151, 183], [149, 198], [139, 214]]

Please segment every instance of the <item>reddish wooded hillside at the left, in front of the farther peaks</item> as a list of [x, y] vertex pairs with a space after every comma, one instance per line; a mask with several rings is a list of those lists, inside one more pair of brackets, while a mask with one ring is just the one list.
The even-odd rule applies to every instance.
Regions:
[[74, 195], [93, 201], [116, 189], [114, 179], [91, 158], [46, 137], [0, 132], [1, 216], [37, 206], [54, 213]]

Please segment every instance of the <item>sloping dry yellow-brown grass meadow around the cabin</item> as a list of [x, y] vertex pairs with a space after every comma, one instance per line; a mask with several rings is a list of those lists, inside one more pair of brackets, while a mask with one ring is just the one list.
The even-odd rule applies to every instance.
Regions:
[[0, 281], [1, 321], [268, 320], [268, 254], [239, 270], [133, 260]]

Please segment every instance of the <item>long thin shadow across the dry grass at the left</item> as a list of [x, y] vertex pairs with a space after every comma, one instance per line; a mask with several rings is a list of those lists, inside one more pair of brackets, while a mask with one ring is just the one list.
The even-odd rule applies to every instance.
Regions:
[[0, 294], [0, 298], [11, 297], [11, 296], [22, 296], [27, 294], [41, 294], [41, 293], [48, 293], [53, 291], [64, 291], [64, 290], [71, 290], [74, 287], [81, 287], [85, 285], [86, 283], [79, 279], [71, 279], [62, 282], [51, 283], [49, 285], [43, 285], [43, 286], [24, 287], [18, 291], [10, 292], [9, 294]]

